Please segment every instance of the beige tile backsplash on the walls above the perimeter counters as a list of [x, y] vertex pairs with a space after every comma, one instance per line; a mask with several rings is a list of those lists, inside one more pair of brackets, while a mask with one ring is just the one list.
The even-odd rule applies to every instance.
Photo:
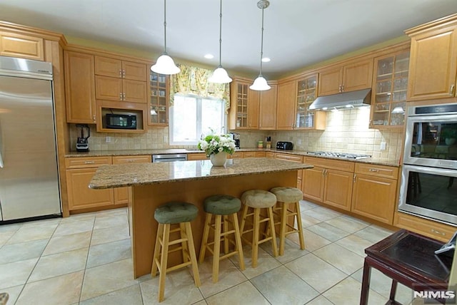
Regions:
[[[237, 132], [241, 135], [241, 148], [255, 148], [258, 140], [265, 142], [265, 138], [271, 136], [272, 145], [276, 145], [278, 140], [291, 141], [296, 150], [362, 153], [382, 160], [398, 160], [403, 147], [403, 131], [369, 129], [369, 117], [369, 108], [341, 110], [327, 114], [325, 131], [237, 130]], [[150, 128], [146, 133], [97, 133], [95, 125], [90, 126], [89, 148], [91, 150], [195, 148], [195, 146], [169, 145], [169, 128]], [[71, 150], [74, 150], [77, 138], [76, 125], [72, 124], [70, 131]], [[111, 137], [110, 143], [106, 143], [107, 136]], [[381, 142], [386, 143], [386, 150], [380, 150]]]

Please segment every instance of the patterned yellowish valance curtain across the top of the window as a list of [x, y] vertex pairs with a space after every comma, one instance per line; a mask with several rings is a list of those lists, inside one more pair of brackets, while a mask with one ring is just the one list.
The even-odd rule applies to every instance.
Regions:
[[225, 101], [226, 112], [230, 108], [230, 84], [209, 83], [213, 71], [178, 64], [181, 72], [170, 77], [170, 105], [176, 93], [198, 95], [202, 98], [220, 98]]

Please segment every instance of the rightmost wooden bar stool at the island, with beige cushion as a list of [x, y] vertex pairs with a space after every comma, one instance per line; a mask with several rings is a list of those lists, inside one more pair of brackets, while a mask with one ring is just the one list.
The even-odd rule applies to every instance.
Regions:
[[[273, 212], [279, 216], [279, 222], [275, 224], [279, 224], [281, 228], [279, 229], [279, 255], [284, 254], [286, 236], [292, 233], [298, 233], [300, 249], [305, 249], [300, 214], [300, 200], [303, 199], [303, 192], [296, 187], [273, 187], [270, 192], [276, 195], [278, 201], [276, 207], [273, 207]], [[293, 223], [296, 222], [297, 227], [288, 224], [289, 217], [293, 217]]]

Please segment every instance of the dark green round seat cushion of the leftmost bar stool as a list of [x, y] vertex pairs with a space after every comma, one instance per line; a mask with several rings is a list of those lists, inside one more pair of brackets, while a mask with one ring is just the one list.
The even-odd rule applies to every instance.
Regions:
[[154, 218], [161, 224], [191, 222], [199, 214], [199, 208], [188, 202], [172, 201], [156, 208]]

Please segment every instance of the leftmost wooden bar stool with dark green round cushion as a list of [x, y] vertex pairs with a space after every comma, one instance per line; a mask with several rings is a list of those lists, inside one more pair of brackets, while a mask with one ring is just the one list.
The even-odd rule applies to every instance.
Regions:
[[[156, 208], [154, 218], [159, 222], [157, 229], [156, 245], [154, 247], [154, 258], [152, 259], [151, 276], [156, 276], [159, 269], [159, 302], [164, 300], [166, 272], [174, 271], [191, 265], [194, 272], [194, 281], [197, 287], [200, 286], [199, 267], [195, 254], [194, 239], [192, 237], [191, 221], [199, 213], [199, 209], [187, 202], [167, 202]], [[176, 229], [171, 229], [171, 224], [177, 224]], [[170, 233], [179, 232], [179, 239], [170, 241]], [[179, 247], [172, 247], [180, 244]], [[167, 268], [168, 254], [175, 251], [182, 251], [184, 262]]]

